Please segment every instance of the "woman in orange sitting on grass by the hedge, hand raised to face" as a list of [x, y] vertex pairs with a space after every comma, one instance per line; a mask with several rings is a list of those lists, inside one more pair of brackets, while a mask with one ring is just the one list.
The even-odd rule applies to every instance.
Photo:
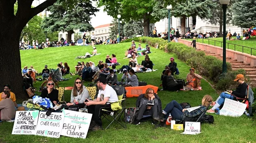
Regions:
[[199, 74], [195, 74], [195, 69], [193, 67], [191, 69], [189, 69], [189, 71], [190, 71], [190, 73], [187, 74], [187, 82], [186, 82], [187, 86], [185, 88], [187, 88], [188, 90], [202, 89], [202, 88], [200, 88], [202, 76], [200, 76]]

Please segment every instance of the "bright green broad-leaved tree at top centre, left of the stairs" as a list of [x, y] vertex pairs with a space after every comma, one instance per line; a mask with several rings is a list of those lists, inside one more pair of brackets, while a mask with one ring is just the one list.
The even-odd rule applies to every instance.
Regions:
[[104, 11], [114, 18], [121, 15], [125, 22], [139, 21], [143, 19], [144, 36], [149, 35], [149, 24], [159, 21], [158, 17], [153, 17], [153, 6], [155, 0], [99, 0], [98, 6], [104, 6]]

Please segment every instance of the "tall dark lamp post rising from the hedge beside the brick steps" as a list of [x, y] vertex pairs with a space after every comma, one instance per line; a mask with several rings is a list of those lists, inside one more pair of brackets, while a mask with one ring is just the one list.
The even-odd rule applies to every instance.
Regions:
[[230, 0], [219, 0], [223, 9], [223, 64], [222, 64], [222, 74], [227, 72], [226, 64], [226, 10]]

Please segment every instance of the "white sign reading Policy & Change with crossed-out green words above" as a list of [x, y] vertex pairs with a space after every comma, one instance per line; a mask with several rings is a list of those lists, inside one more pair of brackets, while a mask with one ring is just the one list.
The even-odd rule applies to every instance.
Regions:
[[67, 137], [83, 138], [87, 136], [92, 114], [63, 110], [64, 122], [61, 135]]

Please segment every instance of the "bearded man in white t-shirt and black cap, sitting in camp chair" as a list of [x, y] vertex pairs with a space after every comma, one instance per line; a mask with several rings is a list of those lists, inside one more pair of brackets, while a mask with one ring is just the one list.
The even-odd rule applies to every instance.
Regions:
[[101, 109], [106, 109], [108, 111], [112, 111], [110, 103], [107, 102], [116, 102], [118, 101], [117, 93], [115, 90], [106, 84], [106, 78], [100, 77], [95, 80], [99, 93], [96, 100], [85, 102], [87, 105], [88, 113], [93, 114], [93, 120], [95, 121], [95, 126], [91, 128], [91, 130], [96, 131], [102, 129], [102, 121], [100, 119], [102, 115]]

